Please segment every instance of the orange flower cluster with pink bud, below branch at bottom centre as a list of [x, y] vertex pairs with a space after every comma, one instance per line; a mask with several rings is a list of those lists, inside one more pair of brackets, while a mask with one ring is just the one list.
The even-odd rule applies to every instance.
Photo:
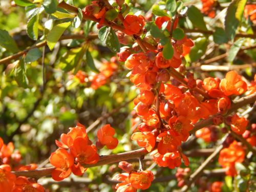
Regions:
[[120, 162], [119, 167], [126, 173], [115, 175], [112, 180], [120, 181], [116, 185], [117, 192], [131, 191], [136, 192], [137, 189], [147, 189], [150, 187], [154, 179], [154, 175], [150, 170], [133, 170], [132, 164], [127, 162]]

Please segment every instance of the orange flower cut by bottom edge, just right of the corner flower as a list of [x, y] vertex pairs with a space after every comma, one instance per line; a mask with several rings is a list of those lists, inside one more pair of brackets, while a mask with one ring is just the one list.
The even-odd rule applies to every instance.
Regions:
[[29, 181], [27, 177], [19, 176], [15, 182], [16, 186], [12, 192], [22, 192], [22, 191], [33, 191], [33, 192], [44, 192], [45, 189], [42, 185]]

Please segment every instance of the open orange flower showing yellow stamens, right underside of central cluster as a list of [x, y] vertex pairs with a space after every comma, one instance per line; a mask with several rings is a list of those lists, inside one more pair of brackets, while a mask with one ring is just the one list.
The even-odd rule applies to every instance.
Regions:
[[189, 131], [191, 131], [194, 127], [194, 125], [190, 123], [191, 121], [183, 116], [173, 116], [168, 121], [171, 129], [167, 132], [175, 131], [176, 133], [178, 133], [181, 141], [186, 141], [189, 137]]

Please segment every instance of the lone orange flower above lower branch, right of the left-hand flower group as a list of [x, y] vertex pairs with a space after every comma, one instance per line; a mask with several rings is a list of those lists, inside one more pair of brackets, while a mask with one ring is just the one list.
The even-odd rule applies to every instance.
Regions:
[[113, 137], [114, 135], [115, 129], [111, 127], [110, 124], [102, 126], [97, 132], [99, 142], [106, 145], [110, 150], [116, 148], [118, 144], [118, 140]]

